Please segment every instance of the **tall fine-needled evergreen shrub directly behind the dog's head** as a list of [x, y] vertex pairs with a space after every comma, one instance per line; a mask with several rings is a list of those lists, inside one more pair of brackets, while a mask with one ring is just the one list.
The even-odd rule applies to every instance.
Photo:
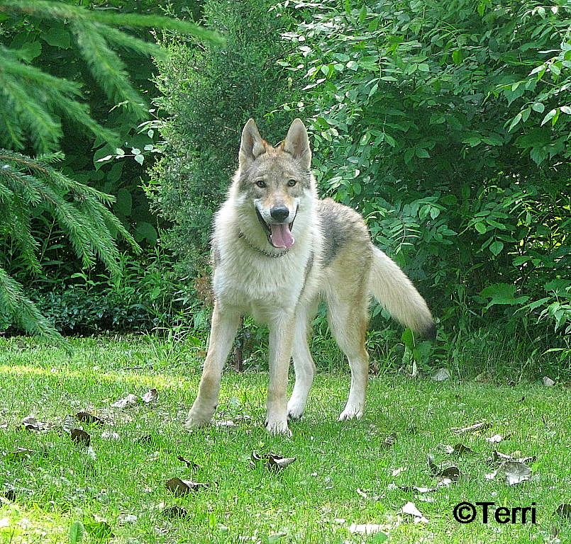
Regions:
[[[292, 26], [287, 11], [269, 11], [270, 1], [207, 0], [204, 25], [226, 38], [226, 47], [202, 47], [165, 38], [170, 60], [158, 62], [157, 100], [168, 115], [160, 132], [164, 157], [151, 172], [147, 191], [153, 208], [172, 228], [164, 241], [179, 256], [184, 275], [204, 266], [212, 214], [237, 166], [240, 131], [256, 118], [264, 133], [279, 139], [292, 115], [273, 115], [296, 93], [277, 66]], [[264, 127], [265, 125], [265, 127]]]

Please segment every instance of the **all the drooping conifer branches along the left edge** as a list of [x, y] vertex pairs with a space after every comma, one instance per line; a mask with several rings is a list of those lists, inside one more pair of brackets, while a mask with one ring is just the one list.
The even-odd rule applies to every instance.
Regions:
[[[0, 4], [1, 21], [22, 15], [34, 22], [56, 19], [65, 23], [109, 107], [121, 104], [140, 119], [148, 118], [148, 106], [129, 81], [117, 50], [155, 57], [164, 57], [165, 51], [116, 27], [170, 28], [221, 42], [214, 32], [163, 16], [89, 10], [65, 1], [5, 0]], [[55, 328], [6, 268], [16, 255], [28, 271], [40, 273], [33, 214], [42, 210], [51, 215], [83, 265], [102, 261], [112, 276], [120, 273], [116, 236], [138, 249], [109, 210], [111, 196], [64, 176], [55, 167], [62, 159], [62, 119], [81, 126], [100, 142], [116, 141], [113, 132], [94, 120], [77, 83], [33, 66], [26, 48], [0, 42], [0, 321], [59, 342], [63, 340]], [[39, 156], [33, 159], [22, 152]]]

